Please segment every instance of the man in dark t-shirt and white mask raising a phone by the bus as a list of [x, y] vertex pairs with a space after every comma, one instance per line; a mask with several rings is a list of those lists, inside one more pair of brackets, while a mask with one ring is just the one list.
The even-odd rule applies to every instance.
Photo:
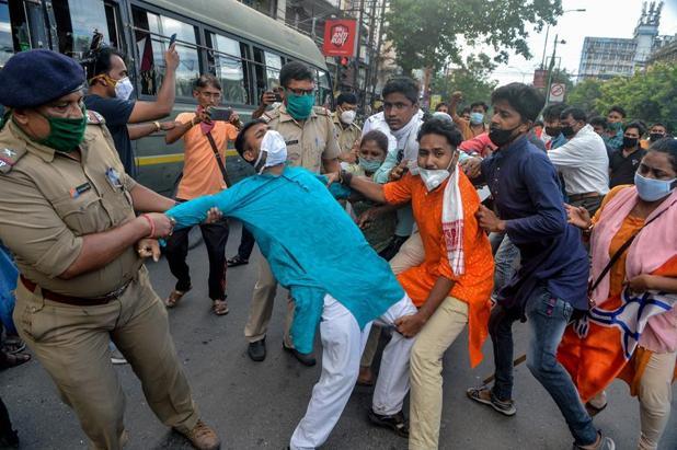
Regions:
[[89, 82], [84, 104], [88, 109], [105, 118], [125, 172], [133, 178], [136, 178], [137, 170], [131, 141], [172, 129], [175, 125], [174, 122], [151, 122], [169, 116], [174, 107], [179, 67], [179, 53], [174, 47], [172, 45], [164, 54], [164, 77], [154, 102], [131, 97], [134, 85], [127, 73], [125, 56], [119, 50], [113, 47], [100, 48], [84, 64]]

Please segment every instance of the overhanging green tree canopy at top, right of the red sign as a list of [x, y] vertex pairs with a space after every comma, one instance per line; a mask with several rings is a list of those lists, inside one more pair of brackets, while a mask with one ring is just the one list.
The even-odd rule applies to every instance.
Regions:
[[391, 0], [386, 20], [398, 64], [411, 74], [461, 65], [464, 45], [492, 47], [496, 62], [507, 61], [510, 49], [530, 58], [526, 25], [540, 31], [561, 14], [561, 0]]

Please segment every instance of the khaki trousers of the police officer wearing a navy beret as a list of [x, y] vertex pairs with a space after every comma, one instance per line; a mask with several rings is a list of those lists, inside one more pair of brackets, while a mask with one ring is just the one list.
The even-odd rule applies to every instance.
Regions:
[[148, 405], [167, 426], [187, 432], [198, 412], [169, 332], [167, 310], [146, 267], [116, 300], [73, 307], [30, 292], [20, 281], [14, 323], [20, 336], [73, 408], [91, 448], [124, 442], [125, 396], [111, 362], [111, 339], [141, 381]]

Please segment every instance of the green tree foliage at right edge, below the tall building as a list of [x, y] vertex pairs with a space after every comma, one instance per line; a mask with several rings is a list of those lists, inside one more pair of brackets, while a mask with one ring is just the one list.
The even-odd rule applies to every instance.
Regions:
[[627, 120], [662, 122], [674, 132], [677, 130], [676, 100], [677, 64], [657, 64], [630, 78], [584, 80], [574, 88], [569, 103], [603, 115], [609, 107], [620, 105], [628, 112]]

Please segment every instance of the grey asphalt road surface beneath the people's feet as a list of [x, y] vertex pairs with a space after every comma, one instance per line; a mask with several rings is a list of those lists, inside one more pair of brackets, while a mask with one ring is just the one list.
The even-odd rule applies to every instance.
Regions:
[[[240, 240], [233, 227], [228, 255]], [[255, 251], [257, 252], [257, 251]], [[320, 367], [306, 368], [282, 349], [286, 292], [280, 289], [267, 337], [268, 356], [253, 362], [246, 356], [243, 327], [256, 277], [255, 259], [228, 272], [230, 314], [217, 318], [207, 297], [207, 256], [195, 247], [188, 263], [194, 289], [170, 311], [171, 331], [204, 419], [223, 440], [223, 449], [284, 449], [306, 412]], [[150, 263], [153, 286], [168, 295], [173, 278], [162, 259]], [[526, 348], [526, 327], [516, 325], [516, 354]], [[320, 348], [319, 343], [315, 348]], [[129, 366], [115, 369], [127, 395], [125, 425], [128, 449], [190, 449], [186, 441], [164, 427], [146, 404]], [[445, 356], [441, 449], [571, 449], [572, 438], [556, 406], [531, 377], [525, 365], [516, 369], [515, 397], [518, 413], [508, 418], [466, 399], [466, 388], [492, 372], [491, 348], [485, 361], [471, 370], [464, 336]], [[72, 412], [57, 397], [41, 365], [33, 360], [0, 372], [0, 394], [7, 403], [23, 449], [83, 449], [87, 438]], [[406, 440], [371, 427], [366, 422], [371, 392], [356, 388], [337, 426], [323, 449], [406, 449]], [[677, 401], [673, 401], [673, 408]], [[405, 409], [406, 411], [406, 409]], [[616, 382], [609, 390], [609, 407], [596, 424], [616, 439], [617, 448], [636, 448], [639, 405], [627, 386]], [[677, 413], [673, 413], [661, 449], [677, 449]]]

